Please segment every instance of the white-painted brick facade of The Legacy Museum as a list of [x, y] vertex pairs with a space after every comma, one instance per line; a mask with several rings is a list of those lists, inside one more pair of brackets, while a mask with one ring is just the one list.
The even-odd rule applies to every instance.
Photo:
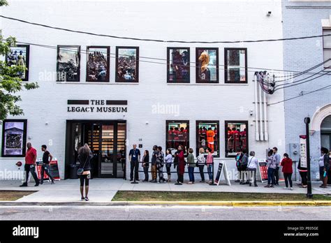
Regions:
[[[268, 11], [272, 12], [270, 16], [267, 16]], [[1, 8], [1, 15], [53, 27], [133, 38], [211, 41], [282, 37], [281, 2], [271, 0], [203, 2], [12, 0], [10, 6]], [[228, 161], [230, 169], [235, 168], [235, 162], [233, 158], [226, 157], [226, 121], [247, 122], [248, 147], [249, 150], [256, 152], [258, 159], [265, 159], [268, 147], [277, 146], [280, 153], [285, 152], [284, 104], [268, 107], [265, 114], [267, 126], [264, 126], [264, 121], [263, 126], [260, 126], [260, 123], [256, 126], [256, 112], [258, 112], [258, 119], [263, 119], [264, 114], [256, 110], [254, 103], [256, 82], [253, 82], [255, 71], [263, 71], [263, 68], [283, 68], [282, 42], [157, 43], [75, 34], [4, 19], [1, 20], [1, 29], [3, 36], [15, 36], [21, 43], [30, 44], [29, 82], [38, 82], [40, 85], [38, 89], [22, 92], [20, 105], [24, 109], [24, 115], [8, 117], [8, 119], [27, 119], [27, 141], [38, 149], [38, 158], [41, 158], [41, 145], [48, 146], [50, 152], [59, 161], [62, 178], [69, 177], [69, 165], [73, 163], [70, 155], [73, 154], [74, 140], [70, 138], [71, 131], [68, 130], [71, 121], [77, 121], [81, 124], [79, 126], [83, 126], [84, 121], [87, 123], [86, 127], [89, 126], [89, 128], [91, 124], [102, 124], [105, 121], [109, 121], [114, 128], [117, 124], [126, 124], [122, 126], [123, 130], [118, 132], [126, 132], [126, 158], [133, 143], [142, 145], [140, 151], [148, 149], [152, 152], [153, 145], [165, 148], [167, 120], [189, 121], [189, 124], [186, 124], [189, 125], [189, 147], [195, 151], [197, 148], [196, 121], [218, 121], [219, 145], [217, 146], [220, 156], [215, 157], [215, 161]], [[80, 82], [57, 82], [57, 45], [80, 46]], [[83, 50], [91, 45], [110, 46], [110, 68], [108, 68], [110, 82], [86, 82], [87, 57]], [[115, 51], [118, 46], [139, 47], [139, 82], [115, 82]], [[189, 47], [191, 61], [189, 83], [167, 82], [165, 61], [167, 47], [179, 47], [179, 49]], [[196, 83], [196, 68], [194, 67], [196, 47], [218, 48], [220, 65], [218, 83]], [[245, 52], [247, 55], [245, 80], [247, 82], [225, 82], [224, 48], [247, 48]], [[161, 60], [142, 57], [154, 57]], [[242, 75], [241, 72], [240, 75]], [[283, 99], [281, 93], [267, 97], [269, 103]], [[68, 105], [68, 101], [77, 100], [89, 101], [89, 105]], [[112, 105], [126, 108], [126, 112], [96, 112], [98, 107], [108, 107], [108, 105], [94, 105], [92, 100], [127, 101], [127, 105]], [[157, 109], [162, 108], [162, 105], [175, 105], [172, 107], [175, 110], [172, 112], [170, 110], [167, 114]], [[68, 112], [68, 107], [71, 109], [72, 106], [89, 106], [94, 107], [95, 110], [94, 112]], [[260, 109], [260, 104], [257, 107]], [[260, 117], [260, 114], [263, 114], [263, 117]], [[259, 131], [260, 127], [263, 131]], [[266, 131], [264, 131], [265, 127], [267, 127]], [[105, 128], [112, 131], [112, 127]], [[111, 132], [114, 132], [114, 135], [116, 135], [115, 130]], [[263, 140], [263, 136], [263, 141], [257, 140], [256, 136], [259, 138], [260, 132], [268, 133], [267, 140]], [[86, 137], [86, 135], [85, 138], [81, 137], [80, 142], [88, 140]], [[108, 146], [112, 154], [115, 154], [108, 158], [111, 162], [116, 161], [116, 154], [119, 153], [115, 151], [115, 147], [112, 147], [115, 146], [116, 140], [112, 142], [112, 145], [109, 145], [111, 148]], [[1, 147], [3, 146], [1, 144]], [[0, 160], [0, 170], [18, 170], [15, 163], [23, 161], [24, 158], [6, 157], [2, 154]], [[102, 163], [104, 163], [103, 158], [98, 159], [97, 167], [103, 166]], [[110, 170], [114, 169], [117, 172], [110, 170], [105, 172], [106, 169], [102, 169], [105, 172], [103, 174], [98, 168], [100, 171], [97, 176], [123, 177], [122, 168], [114, 166]], [[126, 170], [127, 177], [128, 171], [129, 168]]]

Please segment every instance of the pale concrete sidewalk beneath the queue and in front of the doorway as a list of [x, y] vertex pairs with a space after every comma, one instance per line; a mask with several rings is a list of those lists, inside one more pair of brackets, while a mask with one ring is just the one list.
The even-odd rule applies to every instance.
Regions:
[[[24, 196], [15, 202], [80, 202], [80, 182], [78, 179], [66, 179], [50, 184], [34, 186], [30, 183], [28, 187], [20, 187], [22, 182], [3, 180], [0, 181], [0, 190], [6, 191], [37, 191], [29, 196]], [[117, 191], [201, 191], [201, 192], [242, 192], [242, 193], [307, 193], [307, 189], [293, 184], [293, 191], [283, 189], [284, 182], [275, 188], [265, 188], [266, 183], [258, 182], [258, 187], [240, 185], [231, 182], [231, 186], [221, 184], [220, 186], [209, 186], [207, 183], [199, 183], [176, 186], [172, 183], [150, 183], [142, 182], [131, 184], [124, 179], [91, 179], [89, 182], [89, 202], [110, 202]], [[331, 195], [331, 186], [321, 189], [320, 182], [313, 183], [313, 194]], [[288, 198], [290, 200], [290, 197]]]

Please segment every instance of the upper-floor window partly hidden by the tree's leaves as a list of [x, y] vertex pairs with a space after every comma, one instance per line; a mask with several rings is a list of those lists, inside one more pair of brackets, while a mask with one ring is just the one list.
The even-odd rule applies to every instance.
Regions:
[[29, 50], [30, 45], [17, 45], [10, 47], [9, 54], [6, 55], [6, 64], [8, 66], [22, 66], [25, 71], [17, 73], [17, 77], [22, 81], [29, 80]]

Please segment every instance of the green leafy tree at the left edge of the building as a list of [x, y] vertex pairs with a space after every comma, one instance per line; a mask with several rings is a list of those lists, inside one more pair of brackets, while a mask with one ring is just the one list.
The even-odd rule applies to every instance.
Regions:
[[[0, 6], [7, 6], [6, 0], [0, 0]], [[4, 39], [0, 35], [0, 55], [10, 54], [10, 47], [16, 46], [16, 39], [12, 36]], [[17, 92], [23, 89], [36, 89], [38, 83], [22, 82], [18, 73], [26, 71], [24, 66], [8, 66], [6, 61], [0, 61], [0, 121], [8, 115], [24, 115], [23, 110], [16, 103], [22, 101]]]

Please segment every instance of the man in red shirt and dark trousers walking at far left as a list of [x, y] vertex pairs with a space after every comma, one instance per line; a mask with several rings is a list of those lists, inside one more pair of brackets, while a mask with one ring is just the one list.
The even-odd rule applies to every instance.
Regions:
[[32, 176], [34, 177], [34, 181], [36, 182], [36, 185], [39, 186], [40, 181], [36, 174], [36, 160], [37, 160], [37, 150], [32, 147], [31, 142], [27, 143], [27, 154], [25, 155], [25, 165], [24, 170], [26, 172], [25, 176], [25, 182], [20, 186], [27, 186], [27, 182], [29, 179], [29, 172], [31, 172]]

